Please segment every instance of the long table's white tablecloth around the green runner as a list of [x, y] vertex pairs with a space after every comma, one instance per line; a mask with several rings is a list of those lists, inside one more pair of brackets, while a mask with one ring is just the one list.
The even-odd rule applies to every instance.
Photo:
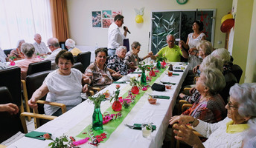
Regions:
[[[182, 63], [176, 62], [171, 63], [173, 67], [181, 67]], [[115, 129], [114, 132], [110, 135], [109, 139], [100, 143], [98, 147], [161, 147], [164, 140], [164, 135], [167, 129], [168, 121], [172, 116], [173, 107], [176, 104], [176, 97], [179, 95], [179, 90], [182, 87], [182, 83], [185, 79], [185, 76], [188, 73], [188, 66], [185, 67], [184, 72], [174, 72], [179, 73], [179, 75], [173, 75], [168, 77], [167, 70], [156, 79], [155, 83], [161, 84], [160, 81], [170, 81], [176, 83], [173, 85], [171, 90], [166, 90], [164, 92], [157, 92], [151, 89], [139, 99], [135, 104], [132, 110], [129, 112], [124, 121]], [[175, 70], [175, 69], [174, 69]], [[180, 70], [180, 69], [179, 69]], [[138, 74], [129, 74], [130, 77], [137, 76]], [[122, 81], [122, 80], [119, 80]], [[124, 92], [127, 92], [131, 87], [129, 84], [120, 84], [121, 92], [120, 95], [123, 95]], [[101, 90], [99, 93], [115, 91], [116, 84], [111, 84], [109, 87], [106, 87], [104, 90]], [[157, 99], [156, 104], [150, 104], [147, 101], [147, 93], [153, 95], [168, 95], [170, 99]], [[109, 101], [103, 101], [100, 106], [100, 110], [103, 113], [107, 108], [111, 107], [112, 104]], [[68, 136], [77, 136], [83, 129], [92, 124], [92, 113], [94, 111], [94, 104], [89, 101], [83, 101], [81, 104], [74, 107], [72, 110], [65, 112], [65, 114], [60, 115], [60, 117], [49, 121], [48, 123], [42, 125], [36, 131], [39, 132], [50, 132], [52, 138], [59, 137], [60, 135]], [[118, 119], [117, 119], [118, 120]], [[153, 122], [156, 125], [156, 130], [151, 133], [149, 138], [144, 138], [142, 136], [141, 130], [129, 129], [125, 127], [124, 124], [142, 124], [142, 123]], [[33, 138], [21, 138], [19, 141], [16, 141], [10, 146], [16, 146], [19, 148], [25, 147], [48, 147], [50, 140], [40, 141]], [[83, 144], [79, 147], [90, 147], [91, 144]]]

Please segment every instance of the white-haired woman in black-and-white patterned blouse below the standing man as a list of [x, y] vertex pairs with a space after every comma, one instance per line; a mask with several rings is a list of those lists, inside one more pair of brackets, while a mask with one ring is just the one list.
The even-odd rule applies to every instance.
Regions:
[[127, 65], [124, 63], [124, 57], [127, 53], [127, 47], [120, 46], [115, 50], [116, 55], [109, 57], [107, 67], [120, 72], [121, 75], [127, 75]]

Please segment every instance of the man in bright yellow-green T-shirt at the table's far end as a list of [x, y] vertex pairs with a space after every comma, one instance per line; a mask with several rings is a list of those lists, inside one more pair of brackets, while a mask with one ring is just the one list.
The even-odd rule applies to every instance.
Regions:
[[173, 35], [166, 36], [166, 41], [168, 46], [163, 47], [159, 53], [151, 56], [152, 59], [156, 59], [157, 56], [164, 56], [167, 58], [167, 61], [179, 62], [181, 55], [184, 58], [188, 58], [188, 53], [185, 50], [181, 50], [181, 47], [179, 47], [181, 45], [179, 44], [179, 46], [177, 46], [174, 44], [175, 38]]

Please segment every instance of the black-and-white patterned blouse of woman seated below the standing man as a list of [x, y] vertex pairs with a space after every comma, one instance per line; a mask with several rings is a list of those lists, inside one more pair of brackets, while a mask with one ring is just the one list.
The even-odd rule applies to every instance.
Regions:
[[107, 67], [120, 72], [121, 75], [127, 75], [127, 65], [124, 64], [124, 61], [118, 57], [118, 55], [112, 55], [109, 57]]

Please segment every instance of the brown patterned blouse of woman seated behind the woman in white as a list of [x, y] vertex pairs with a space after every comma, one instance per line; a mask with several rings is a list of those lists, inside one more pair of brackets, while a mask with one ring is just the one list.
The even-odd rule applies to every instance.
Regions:
[[103, 89], [107, 85], [113, 83], [113, 79], [106, 64], [104, 65], [103, 70], [100, 70], [100, 68], [97, 67], [96, 62], [93, 62], [86, 68], [85, 74], [92, 80], [92, 87], [100, 87], [100, 89]]

